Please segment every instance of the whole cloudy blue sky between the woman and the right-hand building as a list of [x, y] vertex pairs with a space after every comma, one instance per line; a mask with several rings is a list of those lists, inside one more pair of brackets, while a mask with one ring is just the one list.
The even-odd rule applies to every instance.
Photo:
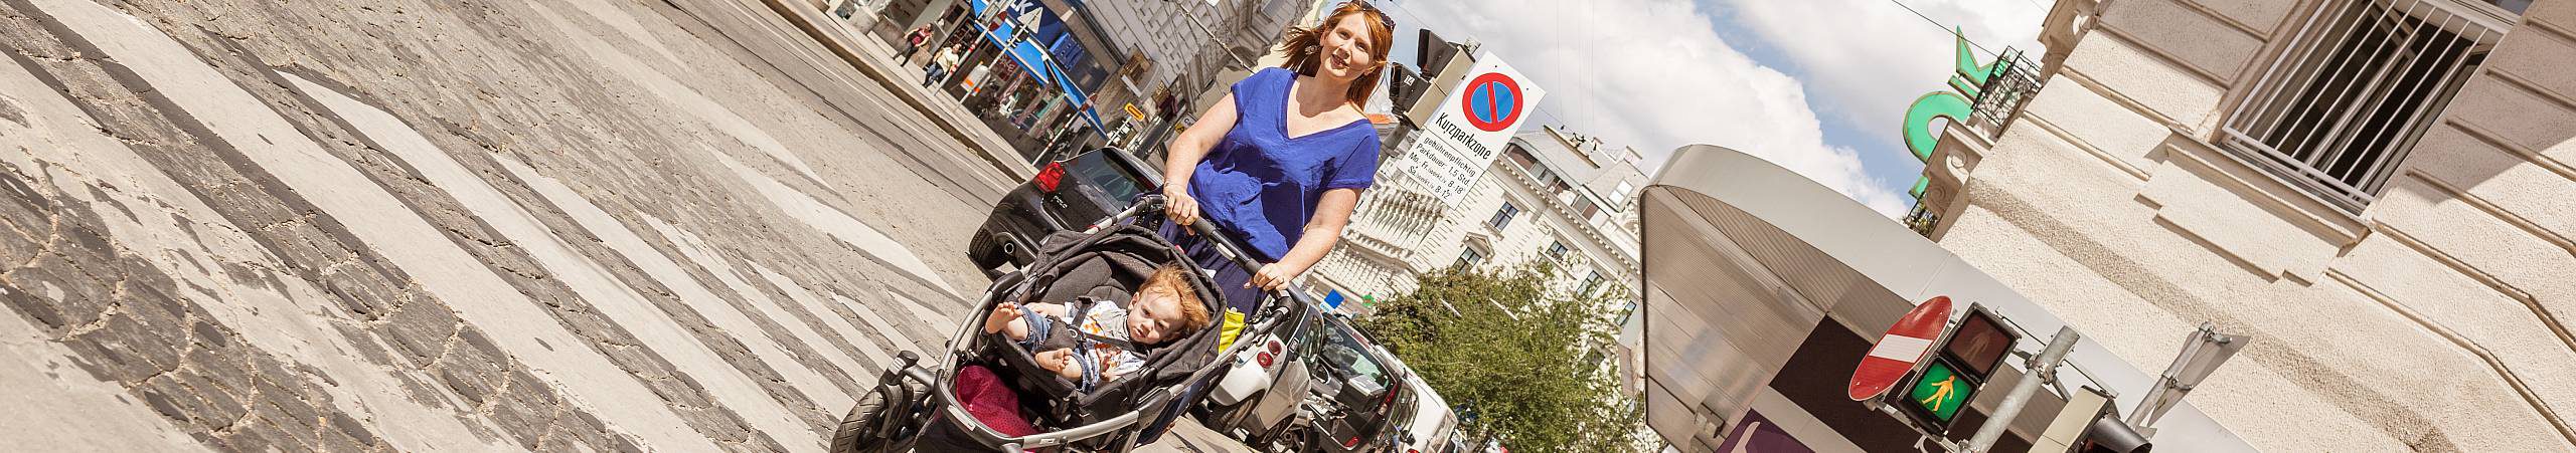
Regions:
[[[1947, 90], [1947, 26], [2040, 54], [2050, 0], [1376, 0], [1414, 62], [1417, 28], [1479, 41], [1548, 90], [1538, 124], [1636, 147], [1649, 172], [1718, 144], [1901, 216], [1922, 162], [1904, 111]], [[1909, 10], [1911, 8], [1911, 10]], [[1919, 15], [1917, 15], [1919, 10]], [[1940, 26], [1935, 26], [1940, 23]], [[1991, 54], [1978, 54], [1991, 62]]]

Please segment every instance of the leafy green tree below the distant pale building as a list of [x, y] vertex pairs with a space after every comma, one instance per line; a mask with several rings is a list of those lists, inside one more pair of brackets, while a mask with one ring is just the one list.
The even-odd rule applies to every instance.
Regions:
[[1618, 371], [1595, 355], [1615, 345], [1610, 309], [1623, 293], [1551, 288], [1553, 268], [1422, 275], [1412, 293], [1378, 301], [1358, 319], [1378, 345], [1404, 358], [1450, 404], [1471, 443], [1512, 450], [1636, 450], [1643, 414], [1618, 391]]

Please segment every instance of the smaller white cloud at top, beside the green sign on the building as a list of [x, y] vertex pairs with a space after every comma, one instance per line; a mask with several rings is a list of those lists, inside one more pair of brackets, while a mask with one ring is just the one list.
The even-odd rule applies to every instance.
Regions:
[[[1721, 0], [1723, 21], [1780, 49], [1819, 111], [1857, 131], [1896, 136], [1906, 106], [1947, 90], [1955, 41], [1891, 0]], [[1965, 31], [1989, 51], [2014, 46], [2038, 62], [2045, 0], [1901, 0]], [[1978, 62], [1994, 62], [1978, 51]], [[1896, 149], [1901, 152], [1901, 149]], [[1911, 180], [1909, 180], [1911, 183]]]

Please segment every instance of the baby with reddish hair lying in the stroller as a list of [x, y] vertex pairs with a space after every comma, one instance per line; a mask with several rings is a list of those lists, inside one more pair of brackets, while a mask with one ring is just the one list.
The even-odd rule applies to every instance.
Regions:
[[1087, 311], [1079, 311], [1082, 319], [1072, 319], [1082, 306], [1020, 306], [1005, 301], [984, 319], [984, 332], [1002, 332], [1012, 342], [1020, 342], [1020, 347], [1036, 350], [1046, 345], [1051, 322], [1069, 322], [1072, 332], [1079, 335], [1074, 337], [1077, 347], [1036, 353], [1038, 368], [1054, 371], [1074, 381], [1082, 391], [1090, 391], [1144, 368], [1144, 355], [1136, 353], [1139, 345], [1162, 345], [1208, 327], [1208, 306], [1198, 301], [1198, 291], [1190, 288], [1182, 273], [1190, 270], [1162, 265], [1133, 291], [1136, 296], [1128, 299], [1126, 309], [1113, 301], [1092, 301]]

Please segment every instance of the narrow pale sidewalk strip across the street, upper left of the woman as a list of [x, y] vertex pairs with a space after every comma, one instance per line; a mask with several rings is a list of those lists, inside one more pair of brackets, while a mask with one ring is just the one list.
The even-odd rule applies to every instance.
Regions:
[[912, 106], [925, 118], [933, 118], [933, 124], [938, 124], [940, 131], [948, 131], [948, 136], [963, 142], [966, 147], [974, 147], [984, 162], [1002, 170], [1005, 175], [1015, 180], [1028, 180], [1030, 175], [1038, 175], [1038, 167], [1023, 162], [1020, 149], [1010, 147], [1010, 139], [1002, 139], [989, 126], [984, 126], [984, 121], [976, 118], [974, 111], [966, 111], [966, 106], [958, 106], [958, 100], [943, 93], [922, 88], [920, 69], [894, 62], [894, 51], [899, 49], [891, 49], [878, 39], [868, 39], [863, 31], [850, 28], [850, 23], [832, 18], [829, 10], [806, 8], [804, 0], [739, 0], [739, 3], [762, 3], [778, 15], [786, 15], [786, 21], [793, 23], [799, 31], [804, 31], [824, 49], [832, 49], [835, 57], [850, 62], [850, 67], [858, 67], [863, 75], [884, 85], [889, 93], [902, 98], [904, 106]]

